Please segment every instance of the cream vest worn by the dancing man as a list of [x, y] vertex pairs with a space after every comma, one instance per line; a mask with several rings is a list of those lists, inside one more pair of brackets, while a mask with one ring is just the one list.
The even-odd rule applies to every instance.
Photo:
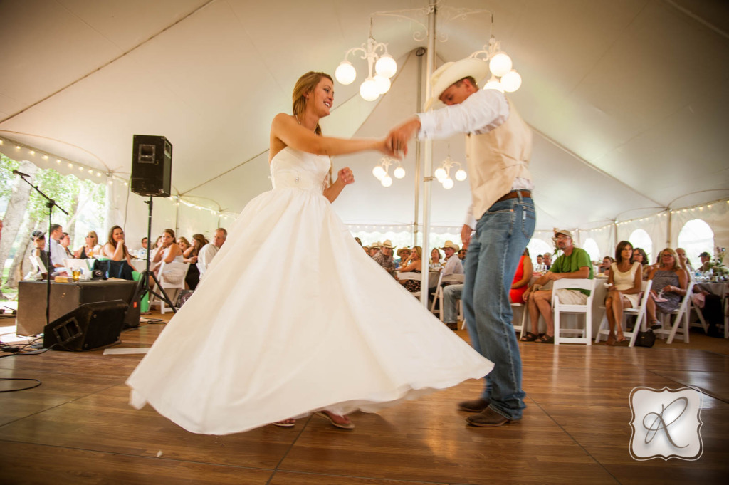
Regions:
[[480, 135], [466, 135], [466, 164], [476, 220], [511, 191], [516, 177], [531, 180], [530, 158], [531, 129], [511, 103], [509, 117], [502, 125]]

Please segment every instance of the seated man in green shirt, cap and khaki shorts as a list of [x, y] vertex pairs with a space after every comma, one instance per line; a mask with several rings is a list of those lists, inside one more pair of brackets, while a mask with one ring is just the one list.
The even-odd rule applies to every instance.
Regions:
[[[552, 290], [542, 290], [547, 282], [558, 279], [593, 279], [592, 261], [585, 249], [574, 247], [572, 233], [569, 230], [555, 229], [554, 241], [562, 250], [562, 255], [552, 263], [550, 270], [537, 279], [529, 290], [524, 292], [524, 301], [529, 308], [531, 318], [531, 332], [527, 332], [521, 340], [537, 342], [539, 344], [554, 344], [554, 319], [552, 317]], [[559, 300], [567, 305], [584, 305], [589, 290], [557, 290]], [[539, 314], [542, 314], [547, 323], [547, 333], [541, 337], [539, 332]]]

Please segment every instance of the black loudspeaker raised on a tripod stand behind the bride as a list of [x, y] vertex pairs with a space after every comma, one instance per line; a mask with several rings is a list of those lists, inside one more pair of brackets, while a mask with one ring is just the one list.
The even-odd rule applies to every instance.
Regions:
[[172, 144], [164, 136], [134, 135], [132, 144], [133, 193], [170, 196]]

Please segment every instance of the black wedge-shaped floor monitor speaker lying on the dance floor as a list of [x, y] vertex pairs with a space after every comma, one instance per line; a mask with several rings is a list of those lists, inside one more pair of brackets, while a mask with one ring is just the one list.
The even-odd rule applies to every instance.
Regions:
[[46, 349], [82, 352], [119, 340], [128, 305], [123, 300], [85, 303], [43, 328]]

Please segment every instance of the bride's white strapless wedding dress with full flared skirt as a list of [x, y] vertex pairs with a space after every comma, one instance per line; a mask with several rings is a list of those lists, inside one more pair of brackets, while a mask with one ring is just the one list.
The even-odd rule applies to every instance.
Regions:
[[132, 406], [224, 435], [376, 411], [491, 371], [354, 241], [322, 195], [329, 168], [290, 147], [273, 158], [273, 190], [243, 209], [127, 380]]

